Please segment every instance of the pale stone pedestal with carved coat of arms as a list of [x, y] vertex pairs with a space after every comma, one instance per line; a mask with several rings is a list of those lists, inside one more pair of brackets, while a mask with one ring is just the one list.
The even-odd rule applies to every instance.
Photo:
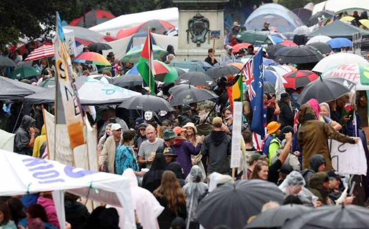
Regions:
[[225, 52], [223, 10], [228, 1], [173, 0], [178, 4], [179, 11], [178, 50], [175, 50], [175, 61], [205, 60], [208, 57], [208, 49], [213, 48], [214, 40], [210, 39], [210, 31], [220, 31], [219, 39], [215, 40], [215, 59], [219, 62], [220, 54]]

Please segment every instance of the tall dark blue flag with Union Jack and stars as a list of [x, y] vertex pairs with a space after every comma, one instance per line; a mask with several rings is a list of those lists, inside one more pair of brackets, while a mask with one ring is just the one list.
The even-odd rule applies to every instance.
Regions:
[[267, 115], [263, 105], [263, 56], [261, 49], [255, 54], [250, 65], [246, 65], [245, 67], [244, 72], [247, 72], [245, 78], [249, 92], [248, 96], [253, 109], [251, 131], [264, 138]]

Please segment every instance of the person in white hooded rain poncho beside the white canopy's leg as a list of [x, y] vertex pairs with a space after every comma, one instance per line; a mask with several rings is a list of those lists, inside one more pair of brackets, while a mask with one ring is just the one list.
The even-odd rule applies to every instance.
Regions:
[[[124, 170], [122, 176], [129, 179], [133, 206], [136, 211], [138, 222], [141, 224], [142, 228], [159, 229], [156, 218], [164, 210], [164, 207], [159, 204], [153, 194], [138, 186], [136, 175], [131, 168]], [[120, 229], [132, 228], [132, 223], [125, 217], [125, 210], [123, 207], [109, 205], [107, 207], [114, 207], [117, 209]]]

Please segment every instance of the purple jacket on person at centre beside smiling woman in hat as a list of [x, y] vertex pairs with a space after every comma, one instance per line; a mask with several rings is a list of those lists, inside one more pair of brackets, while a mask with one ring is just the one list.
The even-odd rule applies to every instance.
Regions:
[[176, 162], [181, 164], [185, 177], [187, 177], [192, 167], [191, 155], [198, 155], [201, 150], [201, 145], [201, 143], [198, 143], [197, 146], [194, 147], [191, 142], [184, 138], [177, 138], [176, 142], [173, 144], [174, 153], [178, 155]]

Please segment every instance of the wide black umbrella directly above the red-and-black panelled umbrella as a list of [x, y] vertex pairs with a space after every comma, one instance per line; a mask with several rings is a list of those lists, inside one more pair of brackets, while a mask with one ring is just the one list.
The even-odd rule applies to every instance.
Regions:
[[317, 50], [308, 46], [299, 46], [281, 53], [275, 61], [282, 64], [307, 64], [317, 63], [323, 58], [323, 55]]

